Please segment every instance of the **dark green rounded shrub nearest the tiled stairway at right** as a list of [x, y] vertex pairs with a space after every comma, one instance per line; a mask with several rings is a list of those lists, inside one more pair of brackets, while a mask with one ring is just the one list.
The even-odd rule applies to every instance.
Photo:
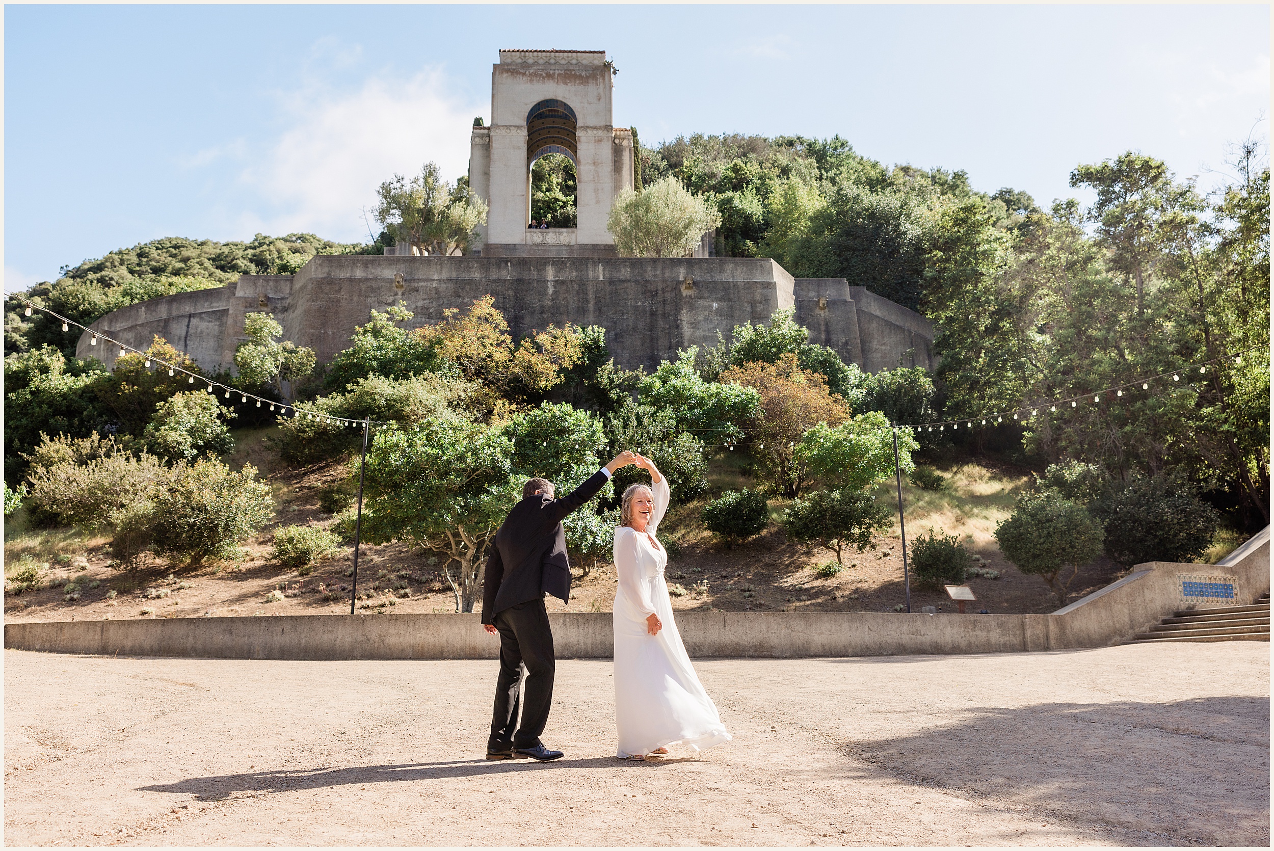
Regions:
[[1192, 562], [1212, 545], [1220, 516], [1189, 484], [1133, 478], [1093, 504], [1106, 526], [1106, 554], [1124, 567]]

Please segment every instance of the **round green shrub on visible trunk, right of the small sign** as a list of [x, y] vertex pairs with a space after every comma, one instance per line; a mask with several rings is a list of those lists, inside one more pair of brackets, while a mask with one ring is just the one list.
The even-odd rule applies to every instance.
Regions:
[[1066, 605], [1079, 568], [1102, 552], [1102, 526], [1079, 503], [1046, 490], [1020, 497], [1013, 516], [996, 526], [995, 540], [1006, 559], [1043, 577], [1057, 604]]

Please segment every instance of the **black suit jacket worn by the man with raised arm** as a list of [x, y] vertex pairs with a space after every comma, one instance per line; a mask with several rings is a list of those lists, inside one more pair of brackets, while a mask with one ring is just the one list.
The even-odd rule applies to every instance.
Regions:
[[561, 499], [533, 494], [513, 506], [487, 557], [483, 623], [494, 623], [497, 613], [545, 594], [569, 601], [571, 563], [562, 518], [598, 496], [609, 478], [605, 470], [598, 470]]

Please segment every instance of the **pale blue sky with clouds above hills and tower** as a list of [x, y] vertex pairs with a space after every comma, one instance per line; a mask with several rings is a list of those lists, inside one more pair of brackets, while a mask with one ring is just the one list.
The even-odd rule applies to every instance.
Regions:
[[[367, 240], [380, 181], [465, 172], [501, 47], [606, 50], [615, 124], [841, 134], [1077, 195], [1124, 150], [1213, 186], [1268, 139], [1269, 8], [5, 6], [5, 289], [163, 236]], [[1082, 197], [1082, 196], [1080, 196]]]

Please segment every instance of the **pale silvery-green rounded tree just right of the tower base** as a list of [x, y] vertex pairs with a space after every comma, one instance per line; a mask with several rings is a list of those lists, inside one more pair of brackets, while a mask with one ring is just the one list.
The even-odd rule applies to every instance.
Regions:
[[622, 190], [610, 206], [606, 231], [623, 257], [685, 257], [719, 224], [721, 215], [712, 205], [669, 176], [641, 194]]

